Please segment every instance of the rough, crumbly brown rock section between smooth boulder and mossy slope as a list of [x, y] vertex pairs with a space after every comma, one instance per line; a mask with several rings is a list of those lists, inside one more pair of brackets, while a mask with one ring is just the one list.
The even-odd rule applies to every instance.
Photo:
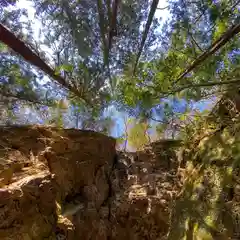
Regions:
[[173, 167], [176, 155], [171, 151], [164, 159], [166, 145], [173, 149], [172, 143], [159, 141], [142, 152], [119, 154], [112, 180], [116, 196], [111, 206], [112, 239], [165, 239], [171, 205], [181, 189]]

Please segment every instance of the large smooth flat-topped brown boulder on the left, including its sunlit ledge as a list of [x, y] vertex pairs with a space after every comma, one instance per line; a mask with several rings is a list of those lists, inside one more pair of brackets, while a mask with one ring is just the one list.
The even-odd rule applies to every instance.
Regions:
[[[0, 154], [0, 239], [75, 239], [71, 217], [79, 206], [99, 215], [108, 198], [113, 138], [73, 129], [2, 127]], [[74, 204], [78, 207], [69, 209]], [[90, 227], [88, 221], [84, 225]]]

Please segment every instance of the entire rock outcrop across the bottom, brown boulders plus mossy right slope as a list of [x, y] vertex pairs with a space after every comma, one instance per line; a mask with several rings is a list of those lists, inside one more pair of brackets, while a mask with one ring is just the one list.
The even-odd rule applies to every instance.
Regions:
[[[230, 106], [230, 107], [229, 107]], [[240, 239], [240, 119], [135, 153], [92, 131], [0, 128], [0, 239]]]

